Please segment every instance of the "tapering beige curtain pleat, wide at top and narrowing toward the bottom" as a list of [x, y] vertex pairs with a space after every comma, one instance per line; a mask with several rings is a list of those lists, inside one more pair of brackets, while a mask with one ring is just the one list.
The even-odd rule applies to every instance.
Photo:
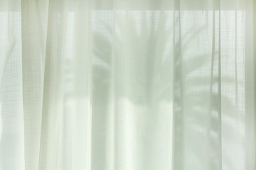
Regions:
[[24, 147], [27, 148], [24, 149], [26, 169], [38, 169], [39, 162], [47, 15], [48, 1], [23, 1], [21, 5], [23, 140]]

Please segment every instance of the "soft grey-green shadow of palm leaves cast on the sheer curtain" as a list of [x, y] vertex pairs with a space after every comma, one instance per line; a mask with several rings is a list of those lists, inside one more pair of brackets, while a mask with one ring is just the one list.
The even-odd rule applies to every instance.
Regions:
[[[131, 44], [129, 44], [128, 50], [133, 50], [133, 54], [135, 54], [134, 56], [128, 56], [129, 63], [127, 63], [127, 65], [131, 63], [134, 64], [134, 67], [132, 67], [133, 70], [131, 69], [130, 72], [130, 74], [134, 75], [134, 77], [132, 77], [133, 79], [129, 82], [129, 84], [130, 86], [132, 86], [132, 91], [135, 91], [136, 93], [131, 92], [124, 94], [122, 93], [122, 91], [119, 91], [119, 93], [117, 93], [117, 96], [124, 96], [125, 98], [129, 98], [129, 101], [132, 101], [132, 103], [136, 103], [136, 105], [149, 106], [148, 123], [145, 128], [146, 130], [144, 130], [142, 134], [142, 141], [146, 143], [146, 145], [144, 145], [144, 152], [148, 153], [146, 154], [147, 156], [144, 159], [145, 161], [148, 161], [153, 157], [151, 155], [151, 147], [153, 147], [154, 145], [154, 142], [152, 142], [152, 137], [154, 137], [154, 133], [156, 133], [156, 122], [158, 121], [158, 113], [156, 111], [156, 107], [154, 106], [156, 106], [156, 103], [158, 101], [164, 99], [171, 100], [171, 98], [169, 97], [171, 89], [169, 87], [172, 86], [171, 84], [173, 84], [174, 82], [170, 81], [170, 79], [168, 79], [169, 74], [166, 74], [166, 72], [169, 72], [170, 70], [170, 57], [164, 58], [164, 52], [166, 50], [165, 44], [168, 43], [170, 38], [170, 32], [172, 30], [172, 28], [165, 29], [165, 24], [168, 16], [162, 16], [161, 19], [163, 21], [161, 22], [163, 24], [161, 25], [162, 27], [158, 28], [158, 31], [155, 31], [156, 21], [154, 21], [154, 15], [151, 15], [151, 18], [146, 17], [146, 13], [142, 13], [141, 29], [144, 31], [142, 31], [141, 34], [137, 32], [137, 21], [134, 18], [129, 18], [129, 30], [126, 30], [129, 31], [128, 35], [130, 38], [132, 38], [132, 42], [130, 42]], [[117, 26], [120, 30], [122, 30], [122, 26], [119, 26], [119, 22], [123, 21], [119, 20], [122, 20], [122, 18], [116, 18], [116, 23], [114, 23], [114, 26]], [[147, 25], [147, 20], [152, 21], [151, 26]], [[120, 47], [122, 47], [122, 43], [127, 40], [120, 38], [119, 35], [117, 35], [117, 33], [113, 31], [112, 26], [110, 26], [108, 23], [105, 23], [104, 21], [101, 22], [102, 25], [105, 26], [107, 30], [109, 30], [110, 34], [115, 37], [114, 43], [102, 34], [95, 33], [94, 37], [95, 45], [93, 47], [93, 53], [98, 58], [98, 60], [100, 60], [100, 62], [104, 63], [102, 65], [95, 65], [95, 67], [93, 67], [93, 72], [95, 74], [93, 84], [95, 86], [94, 88], [97, 89], [95, 91], [94, 97], [95, 101], [97, 99], [97, 101], [107, 102], [107, 96], [109, 96], [110, 93], [110, 74], [114, 67], [114, 65], [112, 65], [112, 50], [115, 51], [114, 57], [119, 57], [119, 55], [122, 55], [123, 49]], [[183, 52], [186, 52], [188, 45], [190, 45], [191, 43], [191, 40], [193, 40], [193, 38], [196, 38], [206, 27], [207, 25], [204, 25], [197, 29], [194, 29], [193, 31], [188, 30], [186, 31], [186, 33], [183, 34], [183, 37], [187, 37], [186, 41], [182, 42]], [[159, 42], [160, 38], [161, 42]], [[158, 44], [158, 42], [160, 45]], [[181, 39], [178, 43], [181, 43]], [[138, 53], [136, 54], [136, 52]], [[171, 56], [170, 53], [168, 55]], [[202, 77], [201, 74], [193, 74], [192, 77], [189, 76], [191, 73], [196, 72], [201, 67], [210, 65], [209, 60], [206, 60], [207, 56], [208, 54], [194, 56], [191, 55], [191, 57], [186, 60], [186, 63], [192, 63], [195, 60], [198, 61], [196, 64], [191, 65], [191, 67], [186, 68], [186, 72], [183, 72], [183, 77], [185, 77], [183, 79], [183, 83], [191, 84], [191, 82], [193, 82], [191, 84], [191, 89], [196, 89], [196, 87], [200, 88], [200, 86], [209, 85], [209, 77]], [[103, 65], [107, 67], [103, 67]], [[114, 79], [119, 79], [119, 77], [115, 77]], [[159, 81], [159, 79], [161, 81]], [[201, 82], [200, 86], [198, 86], [197, 83], [199, 81]], [[223, 77], [223, 83], [232, 84], [233, 81], [233, 77]], [[203, 103], [203, 101], [205, 100], [208, 100], [208, 98], [205, 98], [205, 96], [209, 96], [209, 89], [201, 89], [200, 91], [191, 90], [185, 91], [185, 93], [186, 97], [189, 98], [189, 101], [192, 101], [193, 105], [190, 113], [186, 113], [186, 120], [191, 123], [191, 130], [193, 130], [195, 139], [200, 139], [200, 137], [206, 135], [206, 131], [198, 130], [205, 129], [205, 124], [202, 122], [201, 118], [206, 118], [209, 114], [207, 112], [207, 108], [203, 108], [201, 103]], [[235, 107], [234, 104], [230, 101], [230, 98], [228, 98], [228, 96], [222, 96], [222, 99], [230, 105], [230, 108]], [[107, 109], [107, 104], [104, 106], [104, 108], [102, 108], [102, 110], [104, 109]], [[211, 121], [215, 122], [216, 120]], [[228, 125], [228, 128], [232, 130], [233, 126]], [[213, 131], [215, 131], [215, 133], [218, 133], [215, 129], [213, 129]], [[198, 141], [198, 143], [200, 143], [200, 141]], [[192, 146], [196, 146], [198, 145], [198, 143], [193, 143]], [[201, 152], [198, 152], [198, 147], [192, 147], [192, 149], [193, 157], [201, 160]], [[212, 162], [214, 161], [215, 160], [212, 160]], [[230, 167], [232, 167], [231, 164]]]

